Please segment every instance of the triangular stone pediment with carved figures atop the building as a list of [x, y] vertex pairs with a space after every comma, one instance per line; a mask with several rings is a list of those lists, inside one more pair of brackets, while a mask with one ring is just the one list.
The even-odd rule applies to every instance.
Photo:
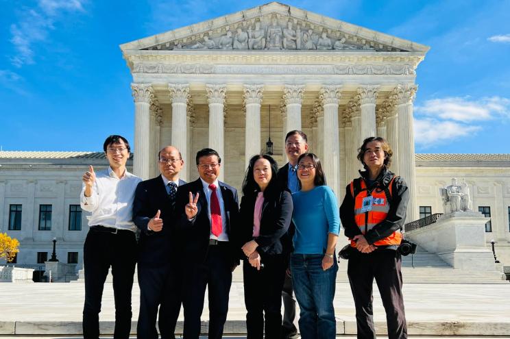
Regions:
[[393, 51], [429, 47], [365, 27], [271, 2], [121, 45], [127, 50]]

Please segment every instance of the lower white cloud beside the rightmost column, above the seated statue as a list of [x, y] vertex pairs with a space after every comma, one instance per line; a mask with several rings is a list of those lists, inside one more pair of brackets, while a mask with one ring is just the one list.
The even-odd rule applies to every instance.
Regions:
[[465, 125], [454, 121], [437, 121], [435, 119], [415, 118], [415, 142], [424, 147], [457, 141], [474, 134], [481, 127]]

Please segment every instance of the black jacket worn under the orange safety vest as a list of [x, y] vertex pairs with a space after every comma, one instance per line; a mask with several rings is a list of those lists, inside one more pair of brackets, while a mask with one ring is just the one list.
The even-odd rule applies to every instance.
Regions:
[[[388, 172], [389, 171], [385, 167], [376, 181], [374, 181], [374, 184], [368, 187], [368, 189], [373, 190], [376, 186], [382, 187], [383, 177], [385, 177]], [[361, 178], [365, 180], [366, 183], [368, 171], [360, 171], [360, 174]], [[409, 203], [409, 189], [401, 177], [396, 177], [392, 185], [391, 201], [387, 218], [365, 234], [365, 239], [369, 244], [384, 239], [390, 236], [394, 231], [404, 227], [407, 204]], [[361, 234], [361, 229], [359, 229], [358, 225], [356, 225], [356, 221], [354, 221], [354, 197], [352, 197], [350, 191], [350, 184], [348, 184], [345, 189], [345, 198], [340, 206], [340, 219], [345, 229], [345, 236], [352, 239], [354, 236]]]

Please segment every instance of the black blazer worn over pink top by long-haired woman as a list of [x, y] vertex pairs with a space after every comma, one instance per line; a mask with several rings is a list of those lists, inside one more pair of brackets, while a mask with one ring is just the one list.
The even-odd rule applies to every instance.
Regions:
[[[266, 192], [267, 194], [268, 192]], [[241, 199], [241, 229], [239, 247], [253, 240], [253, 221], [257, 194], [245, 195]], [[291, 192], [276, 190], [264, 197], [262, 216], [260, 218], [260, 236], [256, 238], [257, 251], [262, 258], [265, 255], [288, 253], [287, 230], [292, 221], [293, 203]]]

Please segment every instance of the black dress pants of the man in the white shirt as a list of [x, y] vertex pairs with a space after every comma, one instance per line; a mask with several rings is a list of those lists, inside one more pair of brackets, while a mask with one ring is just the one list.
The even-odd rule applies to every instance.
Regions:
[[136, 264], [134, 232], [106, 227], [91, 227], [84, 244], [85, 304], [84, 339], [99, 338], [99, 312], [104, 282], [112, 267], [115, 301], [114, 338], [129, 338], [131, 331], [131, 290]]

